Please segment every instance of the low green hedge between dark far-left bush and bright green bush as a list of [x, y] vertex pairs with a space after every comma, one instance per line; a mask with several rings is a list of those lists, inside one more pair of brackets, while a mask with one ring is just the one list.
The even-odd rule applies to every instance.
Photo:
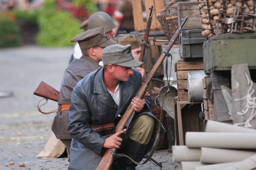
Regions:
[[37, 18], [40, 11], [39, 10], [33, 10], [33, 11], [17, 10], [17, 11], [14, 11], [14, 13], [15, 13], [15, 18], [18, 21], [25, 21], [27, 24], [36, 25]]

